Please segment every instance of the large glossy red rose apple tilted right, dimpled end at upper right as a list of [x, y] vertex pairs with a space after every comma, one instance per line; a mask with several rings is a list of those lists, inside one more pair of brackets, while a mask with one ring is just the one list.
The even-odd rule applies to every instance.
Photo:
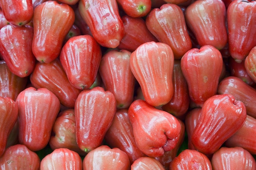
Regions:
[[196, 150], [211, 155], [240, 129], [246, 120], [243, 102], [233, 95], [214, 95], [202, 106], [200, 118], [191, 136]]

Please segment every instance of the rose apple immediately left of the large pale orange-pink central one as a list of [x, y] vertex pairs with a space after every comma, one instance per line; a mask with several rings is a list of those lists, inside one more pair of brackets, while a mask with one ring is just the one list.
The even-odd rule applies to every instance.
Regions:
[[117, 100], [117, 108], [128, 108], [133, 101], [135, 77], [130, 69], [131, 52], [110, 50], [101, 58], [99, 74], [107, 91]]

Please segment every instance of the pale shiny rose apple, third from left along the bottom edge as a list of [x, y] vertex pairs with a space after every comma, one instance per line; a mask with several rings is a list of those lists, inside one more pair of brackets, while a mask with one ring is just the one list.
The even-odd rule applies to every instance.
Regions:
[[119, 148], [102, 145], [85, 156], [83, 170], [130, 170], [130, 161]]

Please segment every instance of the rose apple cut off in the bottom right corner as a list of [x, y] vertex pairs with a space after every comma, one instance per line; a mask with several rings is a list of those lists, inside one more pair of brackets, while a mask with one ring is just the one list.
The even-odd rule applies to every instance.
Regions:
[[213, 170], [255, 170], [256, 162], [254, 157], [241, 147], [221, 147], [212, 158]]

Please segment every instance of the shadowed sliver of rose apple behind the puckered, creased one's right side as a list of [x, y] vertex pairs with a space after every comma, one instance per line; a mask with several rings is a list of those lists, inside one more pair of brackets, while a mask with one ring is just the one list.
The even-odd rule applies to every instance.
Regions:
[[180, 130], [180, 137], [175, 148], [173, 148], [170, 151], [164, 152], [164, 155], [161, 157], [155, 157], [155, 159], [157, 159], [167, 170], [170, 166], [171, 161], [177, 156], [178, 150], [180, 149], [180, 146], [182, 145], [185, 137], [185, 124], [182, 120], [180, 119], [177, 119], [177, 120], [180, 122], [181, 130]]

